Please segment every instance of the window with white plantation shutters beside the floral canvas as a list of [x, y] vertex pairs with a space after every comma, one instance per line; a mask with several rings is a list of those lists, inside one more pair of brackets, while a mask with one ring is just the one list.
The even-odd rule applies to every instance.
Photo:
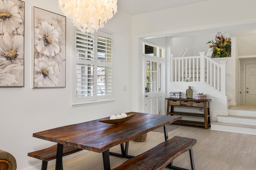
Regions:
[[112, 100], [112, 35], [79, 30], [75, 35], [73, 104]]

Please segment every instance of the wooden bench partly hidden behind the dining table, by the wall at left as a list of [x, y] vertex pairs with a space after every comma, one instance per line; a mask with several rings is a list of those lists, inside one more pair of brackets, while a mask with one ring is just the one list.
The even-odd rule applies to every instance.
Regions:
[[[74, 154], [81, 150], [82, 149], [80, 149], [80, 148], [75, 148], [75, 147], [64, 145], [63, 146], [63, 156]], [[31, 156], [32, 158], [42, 160], [42, 168], [41, 169], [46, 170], [48, 161], [56, 159], [56, 152], [57, 152], [57, 145], [54, 145], [51, 147], [44, 148], [42, 150], [30, 152], [27, 154], [27, 156]]]

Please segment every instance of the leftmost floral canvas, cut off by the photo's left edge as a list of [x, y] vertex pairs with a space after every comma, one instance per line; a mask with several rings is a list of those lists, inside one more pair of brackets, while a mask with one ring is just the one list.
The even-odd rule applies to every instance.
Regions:
[[24, 2], [0, 0], [0, 87], [24, 86]]

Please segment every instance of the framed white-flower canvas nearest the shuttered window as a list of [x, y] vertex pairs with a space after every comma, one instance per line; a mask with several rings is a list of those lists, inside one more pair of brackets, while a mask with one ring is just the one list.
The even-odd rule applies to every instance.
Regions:
[[34, 88], [65, 87], [66, 18], [34, 7]]

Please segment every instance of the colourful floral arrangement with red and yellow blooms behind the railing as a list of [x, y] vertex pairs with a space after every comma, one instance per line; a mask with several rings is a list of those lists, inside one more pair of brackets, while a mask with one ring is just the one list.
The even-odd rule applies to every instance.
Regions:
[[226, 38], [224, 35], [222, 35], [221, 32], [218, 32], [215, 37], [215, 42], [209, 41], [207, 44], [209, 45], [209, 48], [212, 48], [212, 57], [230, 57], [231, 53], [231, 38]]

